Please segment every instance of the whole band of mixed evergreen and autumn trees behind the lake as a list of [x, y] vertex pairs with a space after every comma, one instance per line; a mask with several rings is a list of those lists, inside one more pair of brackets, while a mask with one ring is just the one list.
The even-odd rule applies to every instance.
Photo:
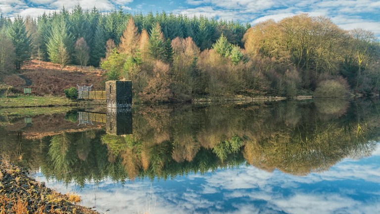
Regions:
[[1, 16], [0, 27], [1, 71], [20, 69], [30, 57], [62, 68], [100, 66], [108, 80], [132, 80], [135, 96], [145, 101], [380, 90], [375, 35], [345, 31], [327, 17], [300, 14], [251, 27], [164, 11], [102, 14], [77, 5], [37, 19]]

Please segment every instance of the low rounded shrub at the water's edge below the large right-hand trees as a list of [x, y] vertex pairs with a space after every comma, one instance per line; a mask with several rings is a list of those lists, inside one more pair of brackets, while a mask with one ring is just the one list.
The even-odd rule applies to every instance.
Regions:
[[324, 80], [315, 89], [314, 97], [347, 97], [348, 84], [344, 79]]

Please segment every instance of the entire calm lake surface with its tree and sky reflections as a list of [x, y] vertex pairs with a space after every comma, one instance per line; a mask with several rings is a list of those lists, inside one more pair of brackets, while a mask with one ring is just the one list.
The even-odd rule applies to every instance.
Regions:
[[66, 110], [0, 115], [0, 153], [100, 213], [380, 213], [379, 98]]

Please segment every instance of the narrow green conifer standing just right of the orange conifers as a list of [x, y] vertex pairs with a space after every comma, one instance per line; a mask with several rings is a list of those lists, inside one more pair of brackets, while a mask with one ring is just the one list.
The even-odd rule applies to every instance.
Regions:
[[152, 28], [149, 37], [149, 54], [156, 59], [162, 59], [165, 51], [164, 36], [161, 32], [161, 26], [157, 22]]

